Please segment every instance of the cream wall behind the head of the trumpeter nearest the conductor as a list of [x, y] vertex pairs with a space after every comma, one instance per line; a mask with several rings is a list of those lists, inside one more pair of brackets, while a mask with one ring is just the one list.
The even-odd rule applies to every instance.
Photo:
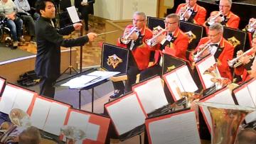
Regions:
[[135, 11], [156, 16], [157, 0], [96, 0], [95, 16], [110, 20], [132, 19]]

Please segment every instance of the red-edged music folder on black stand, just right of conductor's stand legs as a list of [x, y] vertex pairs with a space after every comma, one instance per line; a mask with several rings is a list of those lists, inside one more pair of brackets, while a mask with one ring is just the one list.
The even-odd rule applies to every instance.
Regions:
[[132, 92], [105, 104], [120, 140], [126, 140], [144, 131], [146, 113], [137, 94]]

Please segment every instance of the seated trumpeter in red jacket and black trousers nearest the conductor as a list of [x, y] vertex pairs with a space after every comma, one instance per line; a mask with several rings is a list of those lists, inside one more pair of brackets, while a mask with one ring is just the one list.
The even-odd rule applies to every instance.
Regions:
[[[133, 25], [129, 25], [124, 30], [124, 35], [118, 39], [118, 46], [131, 50], [127, 70], [127, 80], [125, 86], [122, 81], [113, 82], [114, 94], [110, 98], [114, 99], [132, 91], [132, 84], [136, 82], [137, 74], [145, 70], [149, 65], [150, 50], [145, 40], [152, 38], [152, 31], [146, 27], [146, 15], [143, 12], [135, 12]], [[133, 31], [134, 30], [134, 31]], [[126, 38], [128, 35], [128, 38]]]

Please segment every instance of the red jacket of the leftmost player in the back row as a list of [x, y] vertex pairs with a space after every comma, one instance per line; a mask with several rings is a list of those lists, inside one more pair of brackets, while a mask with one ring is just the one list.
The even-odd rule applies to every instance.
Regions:
[[[186, 4], [180, 4], [178, 5], [178, 8], [176, 10], [176, 14], [178, 11], [180, 11], [181, 8], [186, 6]], [[202, 6], [199, 6], [198, 4], [195, 5], [193, 12], [191, 14], [191, 17], [188, 18], [188, 21], [191, 21], [193, 23], [196, 23], [198, 25], [203, 25], [204, 21], [206, 21], [206, 9], [204, 9]]]

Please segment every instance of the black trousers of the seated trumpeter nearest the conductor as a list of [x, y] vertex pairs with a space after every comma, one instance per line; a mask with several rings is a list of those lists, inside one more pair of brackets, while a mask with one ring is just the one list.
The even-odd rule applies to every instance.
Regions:
[[125, 86], [122, 81], [119, 82], [112, 82], [114, 89], [119, 89], [123, 92], [131, 92], [132, 91], [132, 84], [135, 84], [137, 74], [141, 72], [137, 66], [129, 66], [127, 70], [127, 80], [125, 81]]

